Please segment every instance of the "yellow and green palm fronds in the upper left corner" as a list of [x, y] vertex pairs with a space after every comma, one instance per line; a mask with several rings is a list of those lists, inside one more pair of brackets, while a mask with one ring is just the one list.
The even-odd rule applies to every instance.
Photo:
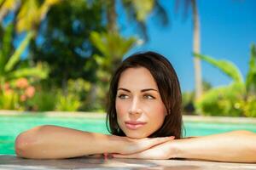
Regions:
[[[0, 15], [4, 17], [8, 12], [13, 11], [15, 17], [16, 31], [26, 32], [26, 37], [20, 42], [15, 53], [10, 55], [12, 46], [12, 38], [14, 35], [13, 24], [6, 26], [6, 31], [3, 34], [3, 48], [0, 49], [0, 82], [15, 79], [18, 77], [46, 77], [46, 71], [43, 71], [40, 65], [32, 68], [17, 68], [20, 61], [20, 55], [25, 50], [31, 39], [35, 36], [37, 27], [41, 20], [44, 20], [51, 5], [59, 3], [61, 0], [45, 0], [44, 3], [39, 3], [35, 0], [3, 0], [0, 2]], [[0, 21], [3, 18], [0, 17]]]

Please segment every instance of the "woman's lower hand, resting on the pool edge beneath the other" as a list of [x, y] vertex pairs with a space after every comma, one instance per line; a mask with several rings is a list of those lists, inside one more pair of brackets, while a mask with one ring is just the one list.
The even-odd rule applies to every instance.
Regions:
[[172, 141], [155, 145], [148, 150], [143, 150], [134, 154], [113, 154], [116, 158], [138, 158], [138, 159], [170, 159], [175, 157], [175, 150]]

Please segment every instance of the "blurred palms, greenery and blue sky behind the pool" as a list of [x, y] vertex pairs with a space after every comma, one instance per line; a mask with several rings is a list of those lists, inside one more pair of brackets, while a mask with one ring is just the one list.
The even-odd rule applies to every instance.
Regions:
[[0, 0], [0, 110], [105, 112], [122, 59], [169, 59], [183, 113], [256, 116], [254, 0]]

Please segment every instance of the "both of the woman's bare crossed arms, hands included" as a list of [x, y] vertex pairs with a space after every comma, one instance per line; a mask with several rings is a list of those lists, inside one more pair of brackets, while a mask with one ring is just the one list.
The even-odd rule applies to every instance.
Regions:
[[255, 143], [256, 134], [248, 131], [191, 139], [130, 139], [46, 125], [20, 133], [15, 141], [15, 151], [17, 156], [32, 159], [61, 159], [109, 153], [113, 157], [139, 159], [256, 162]]

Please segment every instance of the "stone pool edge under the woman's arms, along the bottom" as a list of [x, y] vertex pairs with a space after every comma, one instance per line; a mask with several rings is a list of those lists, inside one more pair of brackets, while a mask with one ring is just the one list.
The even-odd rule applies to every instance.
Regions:
[[137, 160], [73, 158], [63, 160], [28, 160], [14, 155], [0, 155], [0, 169], [256, 169], [256, 164], [216, 161]]

